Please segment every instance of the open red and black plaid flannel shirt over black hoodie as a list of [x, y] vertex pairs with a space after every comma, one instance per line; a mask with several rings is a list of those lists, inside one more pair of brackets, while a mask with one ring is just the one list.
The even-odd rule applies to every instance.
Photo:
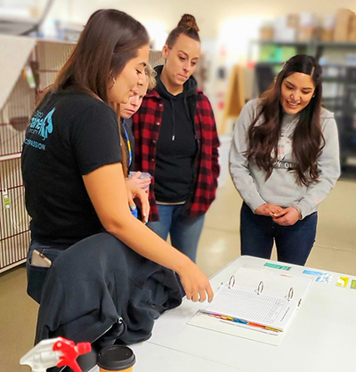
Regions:
[[[141, 109], [133, 117], [136, 169], [152, 175], [150, 183], [150, 221], [158, 221], [158, 207], [154, 194], [156, 153], [159, 129], [162, 123], [164, 103], [156, 90], [150, 91], [142, 101]], [[198, 137], [196, 158], [196, 184], [194, 195], [187, 200], [188, 215], [205, 214], [215, 198], [217, 178], [220, 172], [218, 147], [213, 109], [209, 100], [197, 90], [197, 109], [194, 117]]]

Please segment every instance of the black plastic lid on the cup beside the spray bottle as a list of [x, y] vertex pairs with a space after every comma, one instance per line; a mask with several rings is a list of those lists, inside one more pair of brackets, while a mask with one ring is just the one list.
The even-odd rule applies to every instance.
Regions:
[[97, 365], [109, 371], [119, 371], [134, 366], [134, 352], [127, 346], [111, 345], [104, 347], [98, 354]]

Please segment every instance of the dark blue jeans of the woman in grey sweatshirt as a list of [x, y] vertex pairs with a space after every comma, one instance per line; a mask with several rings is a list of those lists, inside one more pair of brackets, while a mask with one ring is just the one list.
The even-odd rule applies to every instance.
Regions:
[[292, 226], [280, 226], [271, 217], [254, 214], [247, 204], [241, 207], [241, 255], [271, 258], [273, 241], [278, 260], [304, 265], [311, 253], [317, 231], [318, 214], [314, 212]]

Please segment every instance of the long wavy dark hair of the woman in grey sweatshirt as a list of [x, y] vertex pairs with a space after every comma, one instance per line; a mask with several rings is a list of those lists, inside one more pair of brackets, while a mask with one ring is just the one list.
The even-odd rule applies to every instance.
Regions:
[[257, 117], [248, 128], [246, 156], [248, 161], [255, 162], [266, 172], [266, 180], [271, 176], [273, 165], [277, 162], [283, 119], [283, 109], [280, 104], [281, 85], [286, 77], [295, 72], [310, 75], [315, 86], [312, 100], [300, 112], [292, 145], [296, 181], [307, 186], [312, 182], [319, 182], [318, 158], [325, 145], [320, 125], [321, 68], [311, 56], [295, 55], [288, 60], [271, 88], [263, 93]]

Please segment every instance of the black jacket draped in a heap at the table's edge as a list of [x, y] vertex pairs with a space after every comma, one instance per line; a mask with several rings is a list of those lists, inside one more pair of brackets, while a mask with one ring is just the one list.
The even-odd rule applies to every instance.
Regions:
[[62, 336], [101, 346], [151, 336], [154, 319], [182, 303], [174, 271], [136, 254], [107, 232], [81, 240], [54, 262], [44, 282], [36, 344]]

